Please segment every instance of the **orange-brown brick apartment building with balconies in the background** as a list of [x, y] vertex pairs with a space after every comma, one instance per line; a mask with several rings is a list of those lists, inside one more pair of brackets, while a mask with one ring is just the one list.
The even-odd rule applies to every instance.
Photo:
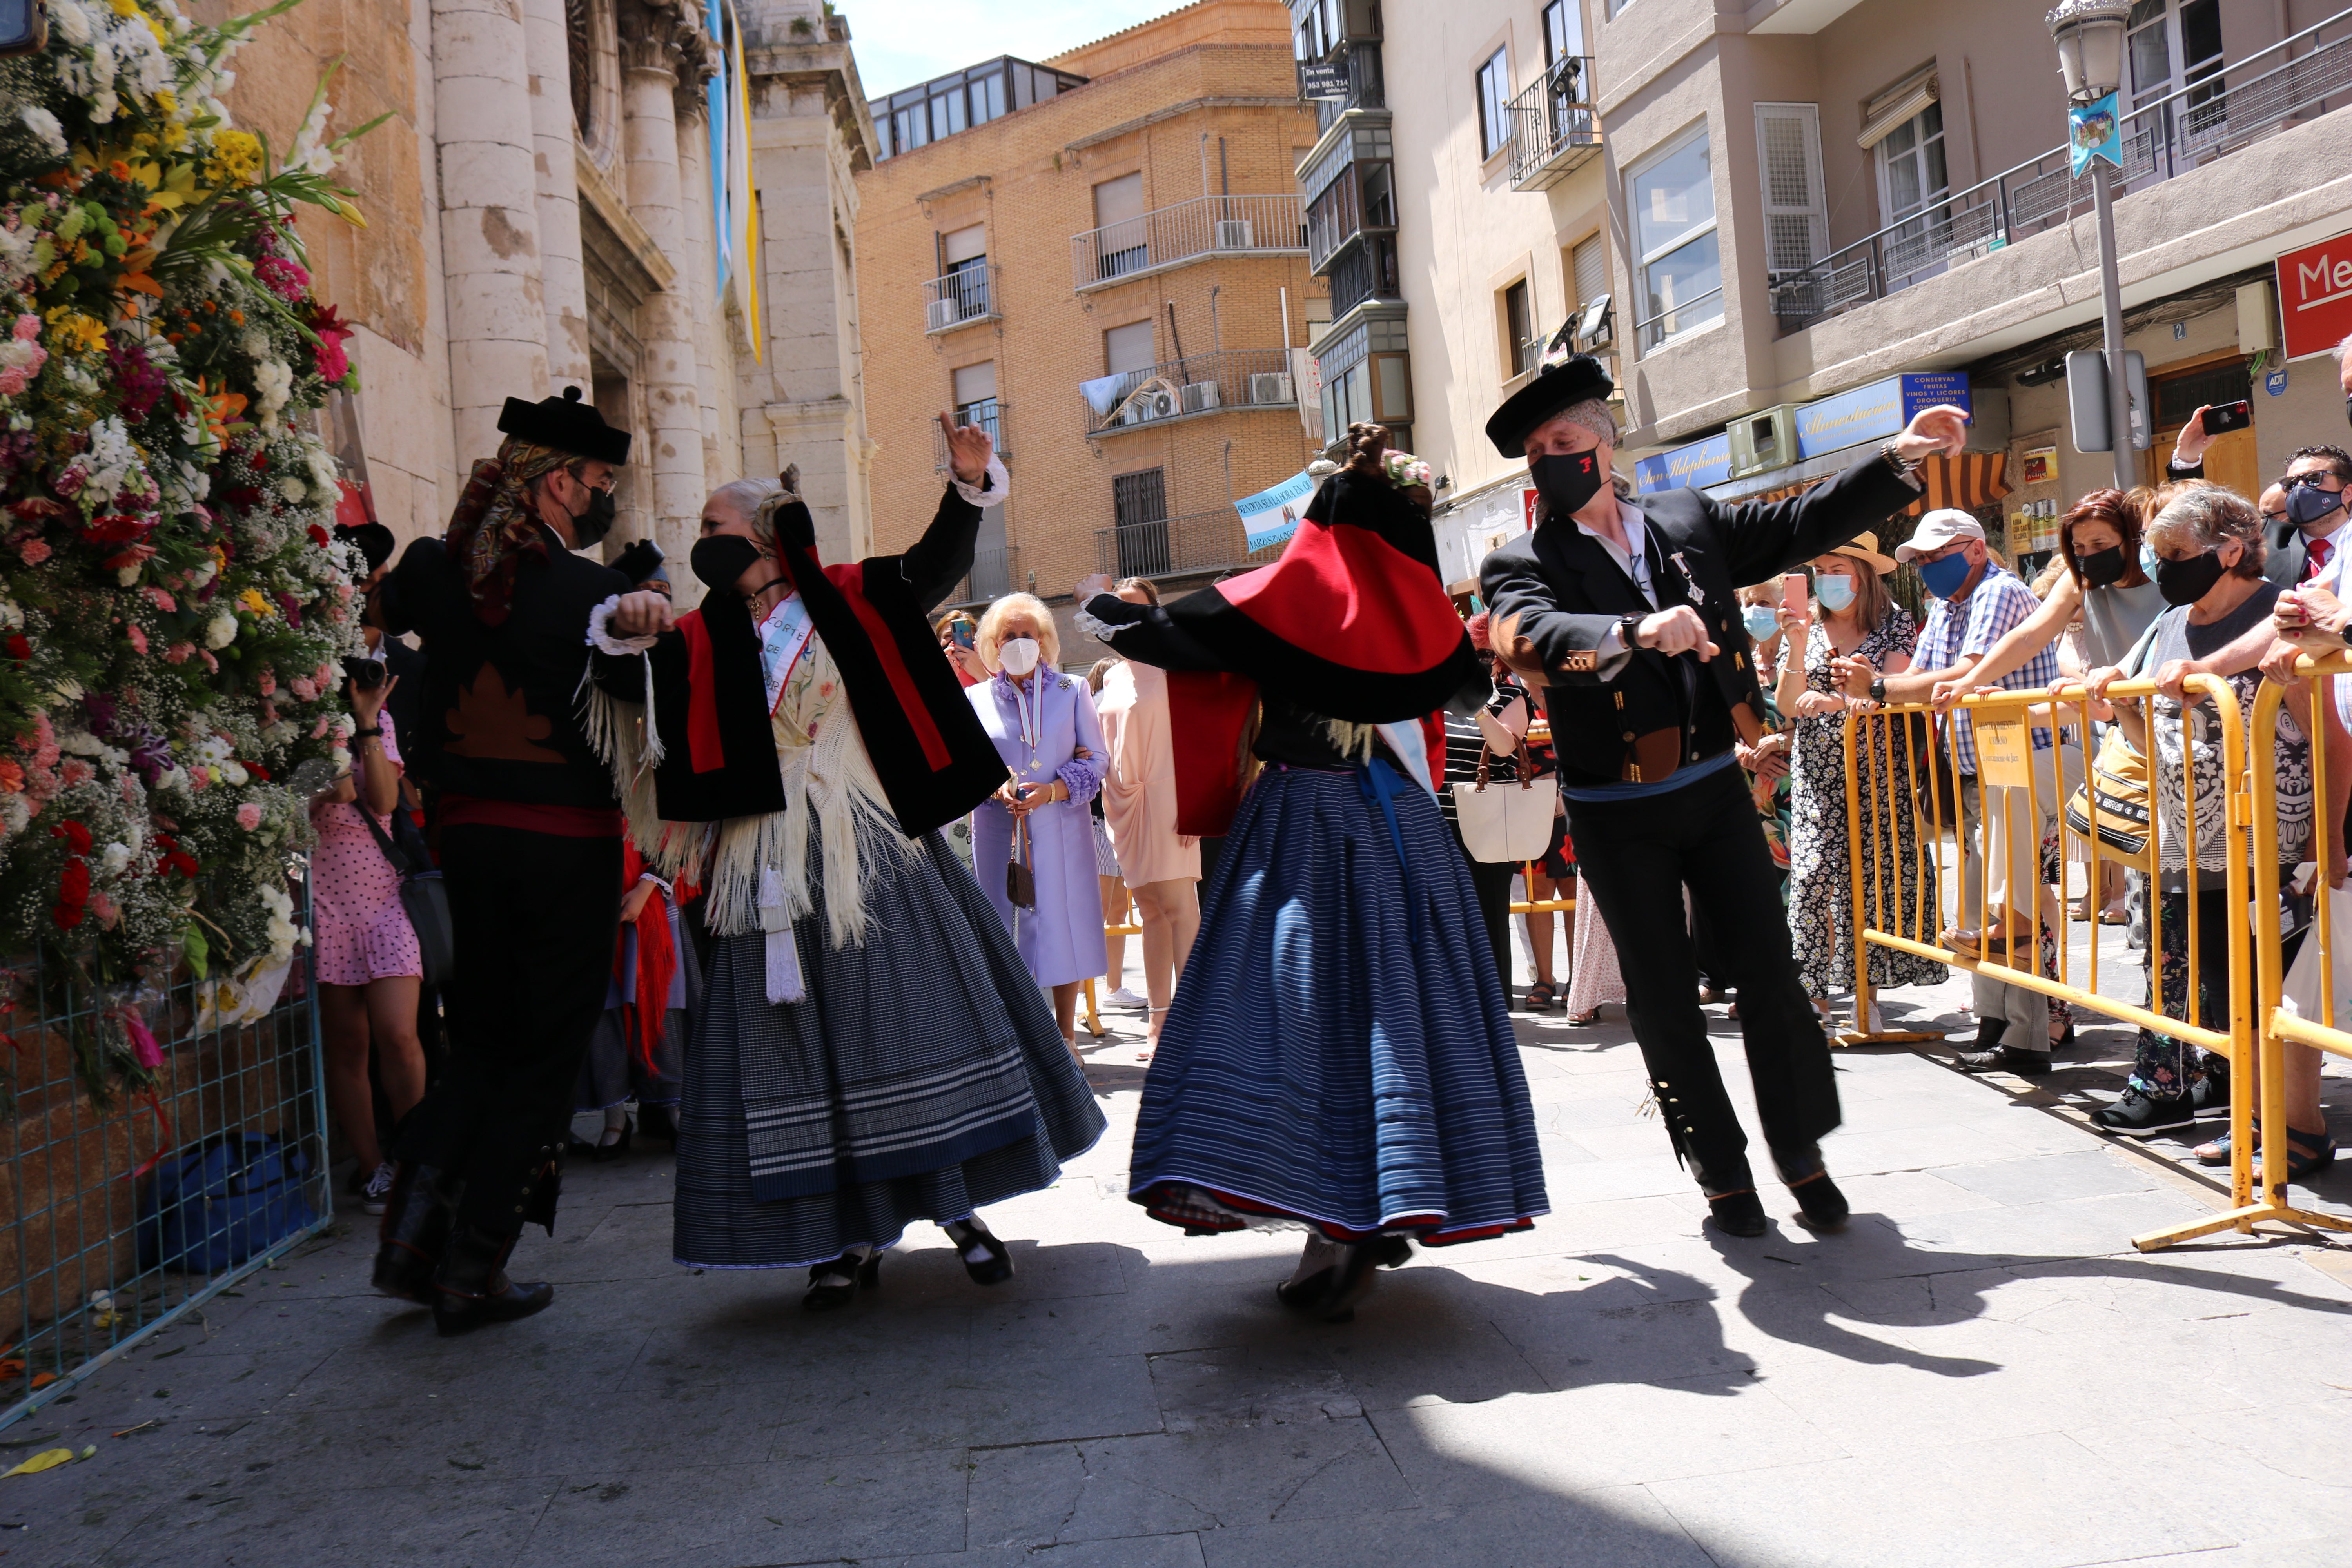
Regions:
[[[1207, 581], [1235, 498], [1315, 456], [1291, 348], [1327, 320], [1291, 169], [1315, 141], [1279, 0], [1200, 0], [1042, 63], [870, 101], [858, 294], [877, 550], [938, 505], [934, 416], [1014, 473], [962, 590], [1068, 611], [1089, 571]], [[1094, 642], [1063, 628], [1063, 663]]]

